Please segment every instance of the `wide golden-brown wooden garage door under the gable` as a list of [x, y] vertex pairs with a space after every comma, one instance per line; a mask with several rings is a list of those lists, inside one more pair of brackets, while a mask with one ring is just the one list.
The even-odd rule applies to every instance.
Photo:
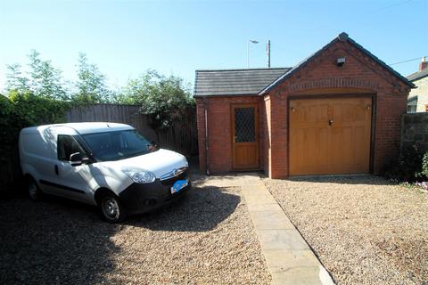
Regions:
[[290, 102], [290, 175], [368, 173], [371, 98]]

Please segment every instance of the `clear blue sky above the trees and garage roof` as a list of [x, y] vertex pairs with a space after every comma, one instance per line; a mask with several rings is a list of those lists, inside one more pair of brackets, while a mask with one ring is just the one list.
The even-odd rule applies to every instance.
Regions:
[[[79, 52], [110, 85], [146, 69], [184, 77], [195, 69], [293, 66], [342, 31], [392, 63], [428, 56], [428, 0], [390, 1], [19, 1], [0, 0], [0, 90], [6, 64], [30, 49], [75, 78]], [[402, 75], [419, 61], [392, 67]]]

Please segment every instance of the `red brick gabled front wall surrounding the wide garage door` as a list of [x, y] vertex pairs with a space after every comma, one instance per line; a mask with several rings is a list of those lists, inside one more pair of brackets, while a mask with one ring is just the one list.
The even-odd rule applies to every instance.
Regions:
[[[342, 67], [336, 59], [346, 57]], [[409, 87], [348, 42], [331, 45], [270, 91], [271, 178], [288, 175], [288, 98], [294, 95], [376, 94], [373, 171], [379, 173], [399, 153], [399, 124]]]

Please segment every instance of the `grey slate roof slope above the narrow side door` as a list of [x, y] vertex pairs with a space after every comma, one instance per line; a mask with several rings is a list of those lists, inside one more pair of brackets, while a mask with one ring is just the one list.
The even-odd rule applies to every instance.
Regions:
[[194, 97], [257, 95], [291, 68], [196, 70]]

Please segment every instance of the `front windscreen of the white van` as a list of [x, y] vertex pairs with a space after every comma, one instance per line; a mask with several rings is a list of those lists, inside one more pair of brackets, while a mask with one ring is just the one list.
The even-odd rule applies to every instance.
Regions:
[[152, 150], [152, 143], [136, 130], [82, 134], [96, 160], [119, 160], [143, 155]]

